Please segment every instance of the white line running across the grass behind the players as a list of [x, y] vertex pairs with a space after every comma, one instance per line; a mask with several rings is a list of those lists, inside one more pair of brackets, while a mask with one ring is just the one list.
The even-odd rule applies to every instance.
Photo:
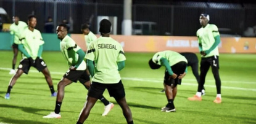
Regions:
[[[0, 68], [0, 70], [6, 70], [6, 71], [9, 71], [10, 68]], [[35, 70], [30, 70], [30, 72], [38, 72], [38, 71], [35, 71]], [[63, 75], [65, 74], [65, 72], [52, 72], [51, 71], [51, 74], [60, 74], [60, 75]], [[136, 78], [136, 77], [122, 77], [123, 80], [134, 80], [134, 81], [141, 81], [141, 82], [154, 82], [154, 83], [163, 83], [163, 79], [160, 80], [160, 79], [146, 79], [146, 78]], [[184, 82], [185, 81], [185, 82]], [[182, 85], [192, 85], [192, 86], [197, 86], [197, 84], [195, 83], [186, 83], [186, 81], [196, 81], [194, 79], [183, 79], [183, 82], [182, 82]], [[210, 80], [207, 80], [207, 82], [210, 81]], [[212, 80], [213, 82], [215, 82], [215, 80]], [[221, 80], [221, 82], [237, 82], [237, 81], [226, 81], [226, 80]], [[238, 82], [237, 82], [238, 83]], [[248, 83], [248, 84], [256, 84], [255, 82], [239, 82], [239, 83]], [[205, 85], [207, 87], [212, 87], [212, 88], [215, 88], [216, 86], [215, 85]], [[231, 89], [231, 90], [250, 90], [250, 91], [256, 91], [256, 89], [254, 88], [241, 88], [241, 87], [226, 87], [226, 86], [221, 86], [221, 88], [226, 88], [226, 89]], [[1, 123], [0, 123], [1, 124]]]

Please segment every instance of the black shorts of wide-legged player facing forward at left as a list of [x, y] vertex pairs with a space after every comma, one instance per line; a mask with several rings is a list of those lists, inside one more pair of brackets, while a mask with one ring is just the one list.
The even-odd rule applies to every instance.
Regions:
[[20, 61], [18, 69], [22, 69], [25, 74], [28, 74], [31, 66], [36, 68], [39, 72], [43, 71], [43, 69], [47, 67], [46, 63], [44, 63], [44, 60], [41, 58], [39, 59], [38, 63], [34, 63], [33, 65], [30, 65], [30, 61], [27, 58], [24, 58]]

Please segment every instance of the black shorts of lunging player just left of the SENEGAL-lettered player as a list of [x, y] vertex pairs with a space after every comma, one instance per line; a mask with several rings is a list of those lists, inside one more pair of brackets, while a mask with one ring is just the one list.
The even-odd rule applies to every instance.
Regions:
[[72, 82], [77, 82], [77, 80], [79, 80], [79, 82], [85, 83], [90, 80], [90, 77], [85, 70], [68, 70], [63, 77]]

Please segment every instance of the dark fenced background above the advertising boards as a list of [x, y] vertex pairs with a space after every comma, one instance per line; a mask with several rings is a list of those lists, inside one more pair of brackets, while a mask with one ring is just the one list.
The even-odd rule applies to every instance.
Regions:
[[[82, 23], [89, 23], [97, 34], [98, 22], [108, 17], [113, 34], [124, 34], [125, 14], [131, 20], [132, 35], [196, 36], [200, 28], [199, 15], [210, 15], [209, 23], [218, 26], [221, 36], [256, 36], [256, 1], [242, 0], [0, 0], [0, 28], [8, 31], [12, 16], [27, 22], [29, 14], [38, 18], [36, 26], [42, 33], [54, 33], [45, 25], [60, 23], [70, 26], [70, 33], [81, 33]], [[128, 5], [128, 8], [127, 8]], [[130, 8], [129, 8], [130, 7]], [[131, 10], [130, 13], [125, 10]]]

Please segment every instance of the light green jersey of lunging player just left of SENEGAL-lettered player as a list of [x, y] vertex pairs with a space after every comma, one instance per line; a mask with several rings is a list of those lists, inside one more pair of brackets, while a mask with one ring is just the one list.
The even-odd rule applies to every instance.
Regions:
[[[65, 36], [62, 41], [60, 41], [60, 51], [66, 58], [69, 66], [75, 66], [78, 62], [78, 54], [76, 53], [81, 48], [76, 45], [75, 41], [70, 36]], [[86, 63], [83, 60], [76, 70], [85, 70]]]

